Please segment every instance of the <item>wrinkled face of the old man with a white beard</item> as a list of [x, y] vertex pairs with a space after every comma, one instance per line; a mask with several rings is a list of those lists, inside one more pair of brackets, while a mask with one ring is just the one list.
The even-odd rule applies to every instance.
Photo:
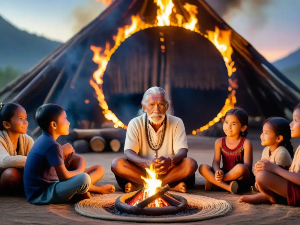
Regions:
[[149, 121], [155, 125], [161, 124], [164, 121], [169, 107], [164, 94], [149, 94], [147, 102], [142, 106], [147, 112]]

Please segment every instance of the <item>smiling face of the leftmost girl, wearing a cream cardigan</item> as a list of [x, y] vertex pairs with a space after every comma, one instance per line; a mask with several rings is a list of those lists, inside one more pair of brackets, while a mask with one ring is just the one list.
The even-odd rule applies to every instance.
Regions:
[[27, 113], [26, 111], [18, 107], [16, 109], [15, 115], [10, 119], [10, 121], [4, 122], [4, 128], [10, 132], [18, 134], [26, 134], [28, 128]]

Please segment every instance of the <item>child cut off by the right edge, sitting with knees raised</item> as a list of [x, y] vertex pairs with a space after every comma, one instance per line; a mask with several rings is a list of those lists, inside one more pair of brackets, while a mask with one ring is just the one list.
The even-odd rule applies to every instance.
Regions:
[[[300, 137], [300, 104], [295, 107], [290, 123], [291, 137]], [[268, 161], [255, 164], [256, 186], [264, 194], [265, 201], [300, 206], [300, 146], [298, 146], [289, 170]]]

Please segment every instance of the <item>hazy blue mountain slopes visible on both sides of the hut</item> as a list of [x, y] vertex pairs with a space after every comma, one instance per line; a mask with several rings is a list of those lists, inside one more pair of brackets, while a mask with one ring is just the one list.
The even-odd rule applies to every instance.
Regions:
[[[25, 72], [61, 44], [22, 31], [0, 16], [0, 69]], [[300, 88], [300, 48], [272, 64]]]

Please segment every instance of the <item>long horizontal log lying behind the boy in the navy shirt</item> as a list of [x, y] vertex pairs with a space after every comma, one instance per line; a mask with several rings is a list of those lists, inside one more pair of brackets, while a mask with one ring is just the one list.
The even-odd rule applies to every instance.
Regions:
[[102, 128], [102, 129], [73, 129], [76, 139], [90, 140], [94, 136], [101, 136], [107, 142], [118, 139], [121, 143], [125, 141], [126, 130], [123, 128]]

